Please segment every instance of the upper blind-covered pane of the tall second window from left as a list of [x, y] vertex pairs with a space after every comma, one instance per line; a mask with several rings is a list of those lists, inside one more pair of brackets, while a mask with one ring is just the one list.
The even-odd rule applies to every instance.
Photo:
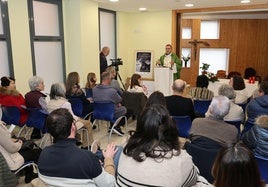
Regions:
[[34, 29], [38, 36], [59, 36], [58, 5], [33, 1]]

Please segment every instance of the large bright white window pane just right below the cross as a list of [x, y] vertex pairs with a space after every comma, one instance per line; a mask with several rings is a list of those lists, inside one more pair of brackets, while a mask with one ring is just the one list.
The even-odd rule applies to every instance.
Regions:
[[[201, 48], [199, 67], [202, 63], [210, 64], [208, 71], [216, 74], [218, 70], [228, 70], [229, 63], [229, 49], [225, 48]], [[199, 75], [201, 74], [199, 68]]]

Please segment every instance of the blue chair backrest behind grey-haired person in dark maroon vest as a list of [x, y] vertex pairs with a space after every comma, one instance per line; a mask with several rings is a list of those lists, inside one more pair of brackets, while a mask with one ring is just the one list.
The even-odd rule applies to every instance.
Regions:
[[45, 121], [48, 116], [48, 113], [45, 113], [42, 109], [38, 108], [34, 109], [27, 108], [27, 112], [28, 112], [28, 119], [26, 122], [27, 126], [34, 127], [42, 130], [43, 132], [46, 132]]

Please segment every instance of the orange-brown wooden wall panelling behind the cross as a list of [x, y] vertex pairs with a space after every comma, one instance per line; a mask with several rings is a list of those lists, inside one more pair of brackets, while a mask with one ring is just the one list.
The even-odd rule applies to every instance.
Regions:
[[[182, 21], [182, 26], [193, 28], [193, 38], [199, 39], [199, 30], [201, 20]], [[203, 40], [204, 41], [204, 40]], [[205, 40], [211, 48], [229, 48], [229, 69], [238, 71], [244, 75], [247, 67], [256, 69], [257, 74], [268, 76], [268, 20], [266, 19], [221, 19], [220, 20], [220, 39]], [[188, 47], [189, 40], [181, 40], [182, 47]], [[199, 48], [201, 45], [198, 46]], [[198, 59], [197, 53], [197, 59]], [[195, 78], [198, 73], [198, 61], [192, 59], [191, 68], [182, 70], [182, 79], [192, 85], [195, 84]]]

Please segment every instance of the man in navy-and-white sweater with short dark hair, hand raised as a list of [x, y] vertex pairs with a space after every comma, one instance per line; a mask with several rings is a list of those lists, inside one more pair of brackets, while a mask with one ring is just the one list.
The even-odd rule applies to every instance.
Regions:
[[39, 161], [39, 178], [48, 186], [114, 186], [113, 157], [116, 146], [108, 144], [104, 168], [95, 155], [76, 146], [76, 126], [67, 109], [56, 109], [49, 114], [46, 126], [54, 144], [45, 147]]

